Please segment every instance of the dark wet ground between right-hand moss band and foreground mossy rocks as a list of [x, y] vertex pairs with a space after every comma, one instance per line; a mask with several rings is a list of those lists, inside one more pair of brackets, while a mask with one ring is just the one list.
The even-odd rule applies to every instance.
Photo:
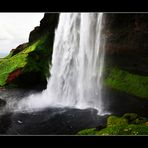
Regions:
[[105, 88], [103, 91], [105, 108], [115, 115], [137, 113], [148, 117], [148, 99], [132, 96], [115, 89]]

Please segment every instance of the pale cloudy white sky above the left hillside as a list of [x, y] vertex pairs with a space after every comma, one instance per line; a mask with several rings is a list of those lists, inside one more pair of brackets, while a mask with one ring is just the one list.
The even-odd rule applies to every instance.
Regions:
[[44, 13], [0, 13], [0, 57], [28, 42], [29, 33], [39, 26]]

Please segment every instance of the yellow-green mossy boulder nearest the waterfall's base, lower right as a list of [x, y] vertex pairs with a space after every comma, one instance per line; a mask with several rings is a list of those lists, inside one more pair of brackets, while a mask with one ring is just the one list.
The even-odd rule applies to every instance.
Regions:
[[127, 125], [128, 120], [122, 117], [109, 116], [107, 119], [107, 127], [117, 126], [117, 125]]

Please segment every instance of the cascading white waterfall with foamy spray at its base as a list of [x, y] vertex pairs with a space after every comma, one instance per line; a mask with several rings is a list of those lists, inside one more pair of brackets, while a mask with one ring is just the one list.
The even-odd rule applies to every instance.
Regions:
[[102, 13], [60, 14], [47, 89], [24, 99], [19, 107], [72, 106], [103, 112], [102, 16]]

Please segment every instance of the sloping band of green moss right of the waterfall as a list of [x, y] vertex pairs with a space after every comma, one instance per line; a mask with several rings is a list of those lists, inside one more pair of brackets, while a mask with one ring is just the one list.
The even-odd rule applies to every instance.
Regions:
[[105, 84], [117, 90], [148, 99], [148, 76], [113, 68], [105, 79]]

